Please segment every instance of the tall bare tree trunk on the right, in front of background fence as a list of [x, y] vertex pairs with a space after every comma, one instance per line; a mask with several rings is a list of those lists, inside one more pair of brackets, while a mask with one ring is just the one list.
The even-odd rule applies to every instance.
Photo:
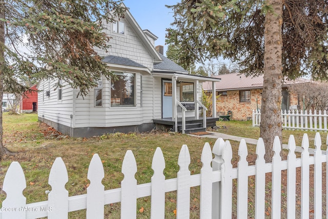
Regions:
[[281, 142], [281, 84], [282, 84], [282, 1], [269, 0], [273, 11], [265, 15], [264, 23], [264, 76], [261, 106], [260, 137], [265, 145], [265, 162], [270, 163], [274, 152], [273, 141]]

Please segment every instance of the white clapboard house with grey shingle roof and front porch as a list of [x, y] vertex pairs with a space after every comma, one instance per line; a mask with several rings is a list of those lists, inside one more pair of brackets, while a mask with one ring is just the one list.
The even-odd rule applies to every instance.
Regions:
[[215, 113], [214, 118], [202, 116], [201, 84], [214, 85], [219, 78], [188, 74], [163, 56], [163, 48], [155, 48], [157, 37], [141, 30], [128, 10], [123, 19], [107, 25], [111, 48], [98, 53], [118, 79], [104, 77], [84, 98], [76, 97], [77, 91], [65, 82], [57, 90], [58, 81], [40, 82], [40, 121], [74, 137], [154, 128], [187, 133], [215, 125]]

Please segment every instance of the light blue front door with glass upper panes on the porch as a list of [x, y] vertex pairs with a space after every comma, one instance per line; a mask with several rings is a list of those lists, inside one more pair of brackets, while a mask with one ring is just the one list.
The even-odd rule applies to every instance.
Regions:
[[172, 81], [162, 81], [162, 117], [172, 118]]

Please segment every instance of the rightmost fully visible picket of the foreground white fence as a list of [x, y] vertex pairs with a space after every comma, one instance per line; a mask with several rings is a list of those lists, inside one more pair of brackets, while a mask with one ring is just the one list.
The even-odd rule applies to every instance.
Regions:
[[322, 218], [322, 163], [321, 137], [319, 132], [314, 138], [314, 218]]

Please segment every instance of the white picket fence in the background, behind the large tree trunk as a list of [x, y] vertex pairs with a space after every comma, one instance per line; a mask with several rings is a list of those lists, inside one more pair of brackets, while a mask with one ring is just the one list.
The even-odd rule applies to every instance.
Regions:
[[[298, 111], [298, 110], [288, 110], [281, 111], [281, 123], [284, 129], [299, 129], [299, 130], [310, 130], [310, 131], [327, 131], [327, 112], [326, 110], [319, 110], [317, 112], [314, 110], [308, 111]], [[253, 110], [252, 113], [253, 126], [259, 126], [261, 123], [261, 111]]]

